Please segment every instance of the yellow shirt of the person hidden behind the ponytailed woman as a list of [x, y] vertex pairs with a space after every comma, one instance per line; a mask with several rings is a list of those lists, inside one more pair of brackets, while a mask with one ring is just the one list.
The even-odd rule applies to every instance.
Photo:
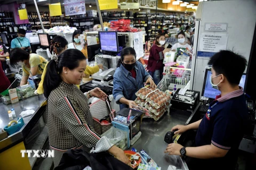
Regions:
[[[37, 88], [37, 93], [39, 95], [43, 94], [44, 93], [44, 87], [43, 87], [43, 84], [44, 84], [44, 77], [45, 77], [45, 73], [46, 73], [46, 68], [47, 68], [47, 64], [45, 65], [45, 69], [44, 69], [44, 72], [41, 76], [41, 81], [38, 85], [38, 88]], [[84, 71], [84, 74], [85, 74], [85, 78], [86, 77], [90, 77], [91, 74], [94, 74], [94, 73], [97, 73], [99, 71], [99, 66], [98, 65], [95, 65], [95, 66], [89, 66], [87, 65], [86, 66], [86, 69]], [[79, 88], [79, 85], [77, 85], [77, 87]]]

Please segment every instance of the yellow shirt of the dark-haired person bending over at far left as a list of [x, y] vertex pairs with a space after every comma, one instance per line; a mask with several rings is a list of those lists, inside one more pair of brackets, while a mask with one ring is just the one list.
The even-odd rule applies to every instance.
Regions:
[[27, 67], [25, 64], [22, 65], [22, 71], [23, 71], [22, 75], [23, 76], [29, 76], [31, 74], [30, 69], [35, 67], [35, 66], [38, 66], [36, 75], [42, 74], [46, 64], [47, 64], [47, 60], [44, 57], [39, 56], [37, 54], [29, 54], [30, 68]]

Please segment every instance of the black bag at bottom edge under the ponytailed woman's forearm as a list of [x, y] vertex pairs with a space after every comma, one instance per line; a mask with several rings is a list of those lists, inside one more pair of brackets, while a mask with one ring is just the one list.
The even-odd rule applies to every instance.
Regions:
[[92, 170], [132, 170], [108, 152], [89, 154], [82, 149], [69, 149], [65, 152], [55, 170], [81, 170], [86, 166], [90, 166]]

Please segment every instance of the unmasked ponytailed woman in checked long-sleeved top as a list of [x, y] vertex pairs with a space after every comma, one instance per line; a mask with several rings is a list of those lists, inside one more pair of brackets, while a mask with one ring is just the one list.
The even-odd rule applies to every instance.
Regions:
[[[70, 62], [72, 61], [72, 62]], [[87, 101], [91, 97], [105, 99], [107, 95], [95, 88], [85, 95], [75, 84], [84, 77], [86, 58], [77, 49], [67, 49], [47, 65], [44, 96], [47, 98], [47, 128], [49, 143], [54, 150], [54, 166], [68, 149], [82, 148], [90, 152], [108, 151], [129, 164], [122, 149], [113, 146], [106, 137], [94, 132], [93, 119]]]

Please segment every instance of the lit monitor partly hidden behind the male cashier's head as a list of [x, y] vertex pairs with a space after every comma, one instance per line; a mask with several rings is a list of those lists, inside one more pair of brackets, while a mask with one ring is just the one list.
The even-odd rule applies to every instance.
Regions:
[[[220, 95], [220, 90], [212, 88], [211, 76], [212, 76], [211, 69], [206, 69], [202, 94], [204, 97], [215, 99], [216, 96]], [[245, 80], [246, 80], [246, 74], [243, 74], [239, 83], [239, 86], [241, 86], [243, 89], [245, 87]]]

